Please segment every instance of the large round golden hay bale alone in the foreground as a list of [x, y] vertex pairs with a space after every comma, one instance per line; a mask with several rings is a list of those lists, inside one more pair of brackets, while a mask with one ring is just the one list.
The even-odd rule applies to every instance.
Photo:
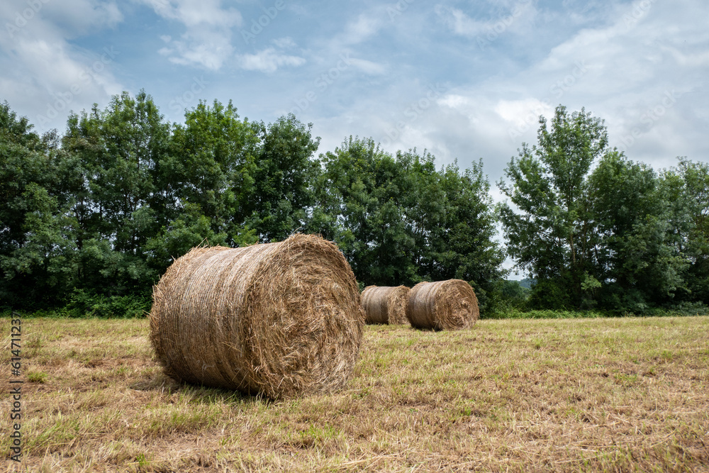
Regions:
[[153, 290], [150, 342], [179, 382], [272, 399], [333, 391], [352, 374], [364, 311], [334, 243], [199, 247]]

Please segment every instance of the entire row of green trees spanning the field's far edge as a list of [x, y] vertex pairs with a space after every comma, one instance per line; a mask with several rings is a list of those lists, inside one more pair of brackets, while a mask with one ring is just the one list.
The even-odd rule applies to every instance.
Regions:
[[[334, 240], [361, 284], [464, 279], [489, 312], [709, 302], [707, 165], [658, 174], [609, 150], [590, 113], [540, 118], [497, 206], [481, 160], [437, 168], [352, 137], [316, 155], [311, 130], [219, 101], [171, 123], [141, 91], [40, 136], [0, 104], [0, 306], [142, 313], [191, 247], [296, 231]], [[535, 279], [528, 298], [504, 279], [506, 255]]]

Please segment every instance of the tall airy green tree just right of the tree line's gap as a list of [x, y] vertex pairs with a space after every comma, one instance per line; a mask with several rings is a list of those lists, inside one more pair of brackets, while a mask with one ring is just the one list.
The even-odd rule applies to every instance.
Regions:
[[579, 306], [587, 295], [594, 238], [586, 177], [607, 151], [608, 135], [603, 121], [583, 108], [569, 114], [558, 106], [549, 127], [543, 116], [539, 123], [538, 145], [523, 143], [506, 169], [510, 184], [498, 184], [514, 206], [500, 206], [501, 222], [508, 254], [537, 279], [538, 293], [547, 281], [569, 288], [563, 297], [544, 291], [551, 297], [537, 303]]

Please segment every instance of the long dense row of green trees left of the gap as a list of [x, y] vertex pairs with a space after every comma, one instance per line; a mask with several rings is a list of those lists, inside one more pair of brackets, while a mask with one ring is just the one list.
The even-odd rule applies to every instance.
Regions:
[[292, 115], [250, 122], [214, 101], [169, 123], [143, 91], [70, 115], [63, 135], [4, 104], [0, 133], [4, 306], [144, 310], [191, 247], [296, 231], [334, 240], [362, 284], [457, 277], [484, 299], [503, 276], [481, 163], [436, 169], [352, 137], [316, 156]]

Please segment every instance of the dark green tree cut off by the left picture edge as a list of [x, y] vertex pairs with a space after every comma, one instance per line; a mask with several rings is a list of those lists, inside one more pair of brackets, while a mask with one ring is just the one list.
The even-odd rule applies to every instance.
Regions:
[[72, 180], [56, 132], [40, 138], [27, 118], [0, 104], [0, 299], [39, 308], [74, 283]]

